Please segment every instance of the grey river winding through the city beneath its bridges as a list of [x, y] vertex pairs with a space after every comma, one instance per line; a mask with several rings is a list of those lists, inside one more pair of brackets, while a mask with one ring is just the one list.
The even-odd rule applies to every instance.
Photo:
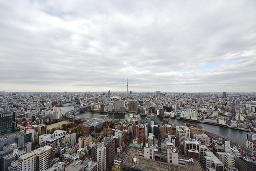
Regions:
[[[67, 111], [70, 111], [74, 109], [73, 106], [67, 106], [67, 107], [62, 107], [62, 113], [64, 114]], [[99, 112], [91, 112], [91, 111], [85, 111], [82, 113], [76, 113], [77, 116], [81, 117], [90, 117], [90, 118], [102, 118], [102, 119], [126, 119], [129, 117], [128, 114], [120, 114], [120, 113], [99, 113]], [[108, 117], [104, 117], [102, 115], [108, 115]], [[134, 115], [140, 119], [145, 119], [145, 115]], [[158, 117], [158, 122], [161, 122], [163, 120], [162, 117]], [[236, 130], [236, 129], [231, 129], [231, 128], [226, 128], [226, 127], [220, 127], [220, 126], [215, 126], [215, 125], [208, 125], [205, 123], [198, 123], [198, 122], [193, 122], [193, 121], [184, 121], [180, 119], [172, 119], [169, 118], [169, 123], [170, 124], [178, 124], [178, 125], [184, 125], [184, 123], [190, 123], [190, 124], [195, 124], [195, 125], [200, 125], [202, 128], [206, 131], [212, 132], [214, 134], [220, 135], [222, 137], [226, 137], [238, 144], [243, 145], [244, 147], [246, 146], [246, 131], [241, 131], [241, 130]]]

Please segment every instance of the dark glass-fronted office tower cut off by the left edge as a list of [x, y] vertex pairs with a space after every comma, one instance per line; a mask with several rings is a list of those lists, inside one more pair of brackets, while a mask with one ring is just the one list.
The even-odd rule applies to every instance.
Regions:
[[15, 131], [15, 112], [0, 111], [0, 135]]

